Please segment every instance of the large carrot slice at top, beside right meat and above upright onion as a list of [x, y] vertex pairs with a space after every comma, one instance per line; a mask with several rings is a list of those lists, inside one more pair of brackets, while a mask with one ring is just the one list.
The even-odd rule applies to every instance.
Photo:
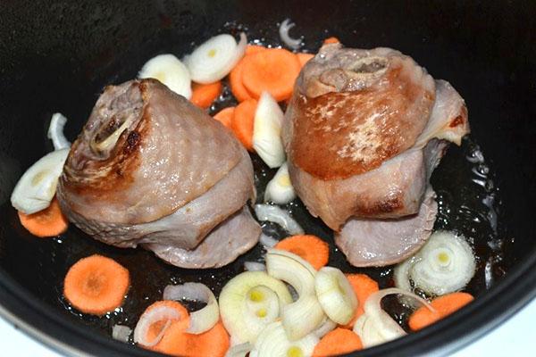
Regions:
[[242, 83], [256, 99], [269, 92], [276, 101], [289, 98], [301, 70], [297, 55], [282, 48], [249, 54], [242, 63]]

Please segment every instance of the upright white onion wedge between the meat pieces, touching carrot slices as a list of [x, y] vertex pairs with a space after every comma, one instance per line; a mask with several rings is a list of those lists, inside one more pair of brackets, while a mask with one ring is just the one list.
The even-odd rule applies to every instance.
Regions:
[[253, 148], [270, 168], [285, 162], [285, 149], [281, 140], [281, 126], [285, 114], [268, 92], [263, 92], [255, 110]]

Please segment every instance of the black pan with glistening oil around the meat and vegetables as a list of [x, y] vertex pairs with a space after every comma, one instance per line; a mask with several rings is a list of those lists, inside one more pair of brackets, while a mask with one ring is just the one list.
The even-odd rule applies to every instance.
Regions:
[[[448, 79], [465, 97], [473, 133], [451, 147], [432, 178], [440, 198], [437, 228], [456, 229], [479, 253], [468, 287], [477, 295], [462, 311], [419, 333], [356, 355], [447, 353], [482, 335], [536, 295], [536, 4], [512, 2], [379, 1], [4, 1], [0, 3], [0, 313], [29, 334], [65, 353], [154, 355], [113, 341], [114, 323], [135, 325], [169, 283], [203, 281], [219, 292], [261, 248], [223, 270], [180, 270], [142, 250], [97, 243], [76, 228], [58, 239], [31, 237], [21, 228], [9, 196], [32, 162], [52, 150], [46, 128], [63, 112], [71, 139], [81, 129], [101, 88], [136, 76], [155, 54], [186, 54], [218, 31], [247, 28], [250, 38], [277, 45], [277, 22], [290, 17], [306, 47], [339, 37], [347, 46], [390, 46]], [[213, 110], [217, 108], [214, 107]], [[483, 186], [471, 182], [466, 156], [480, 145], [490, 172]], [[254, 157], [262, 195], [272, 171]], [[476, 168], [478, 170], [478, 168]], [[266, 173], [263, 178], [262, 172]], [[474, 172], [473, 172], [474, 173]], [[497, 226], [482, 199], [493, 195]], [[331, 232], [297, 202], [306, 230], [331, 240]], [[482, 216], [482, 217], [481, 217]], [[484, 223], [473, 220], [481, 217]], [[272, 229], [273, 227], [265, 227]], [[494, 246], [491, 249], [491, 242]], [[498, 245], [498, 246], [496, 246]], [[129, 298], [105, 319], [85, 316], [63, 301], [62, 281], [73, 262], [90, 253], [112, 256], [129, 268]], [[485, 262], [493, 261], [490, 289]], [[340, 253], [331, 262], [352, 270]], [[390, 286], [389, 267], [364, 271]], [[490, 284], [492, 283], [492, 284]], [[404, 312], [393, 308], [394, 317]]]

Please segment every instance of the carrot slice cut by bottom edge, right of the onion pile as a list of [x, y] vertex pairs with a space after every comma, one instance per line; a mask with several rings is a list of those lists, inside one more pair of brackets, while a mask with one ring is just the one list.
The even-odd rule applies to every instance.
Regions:
[[339, 356], [363, 349], [361, 338], [354, 331], [335, 328], [314, 347], [313, 357]]

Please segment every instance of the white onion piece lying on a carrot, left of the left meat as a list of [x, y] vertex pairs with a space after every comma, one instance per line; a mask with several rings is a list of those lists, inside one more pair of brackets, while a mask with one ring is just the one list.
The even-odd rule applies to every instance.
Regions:
[[54, 198], [69, 149], [46, 154], [29, 167], [13, 189], [11, 202], [26, 214], [46, 209]]

